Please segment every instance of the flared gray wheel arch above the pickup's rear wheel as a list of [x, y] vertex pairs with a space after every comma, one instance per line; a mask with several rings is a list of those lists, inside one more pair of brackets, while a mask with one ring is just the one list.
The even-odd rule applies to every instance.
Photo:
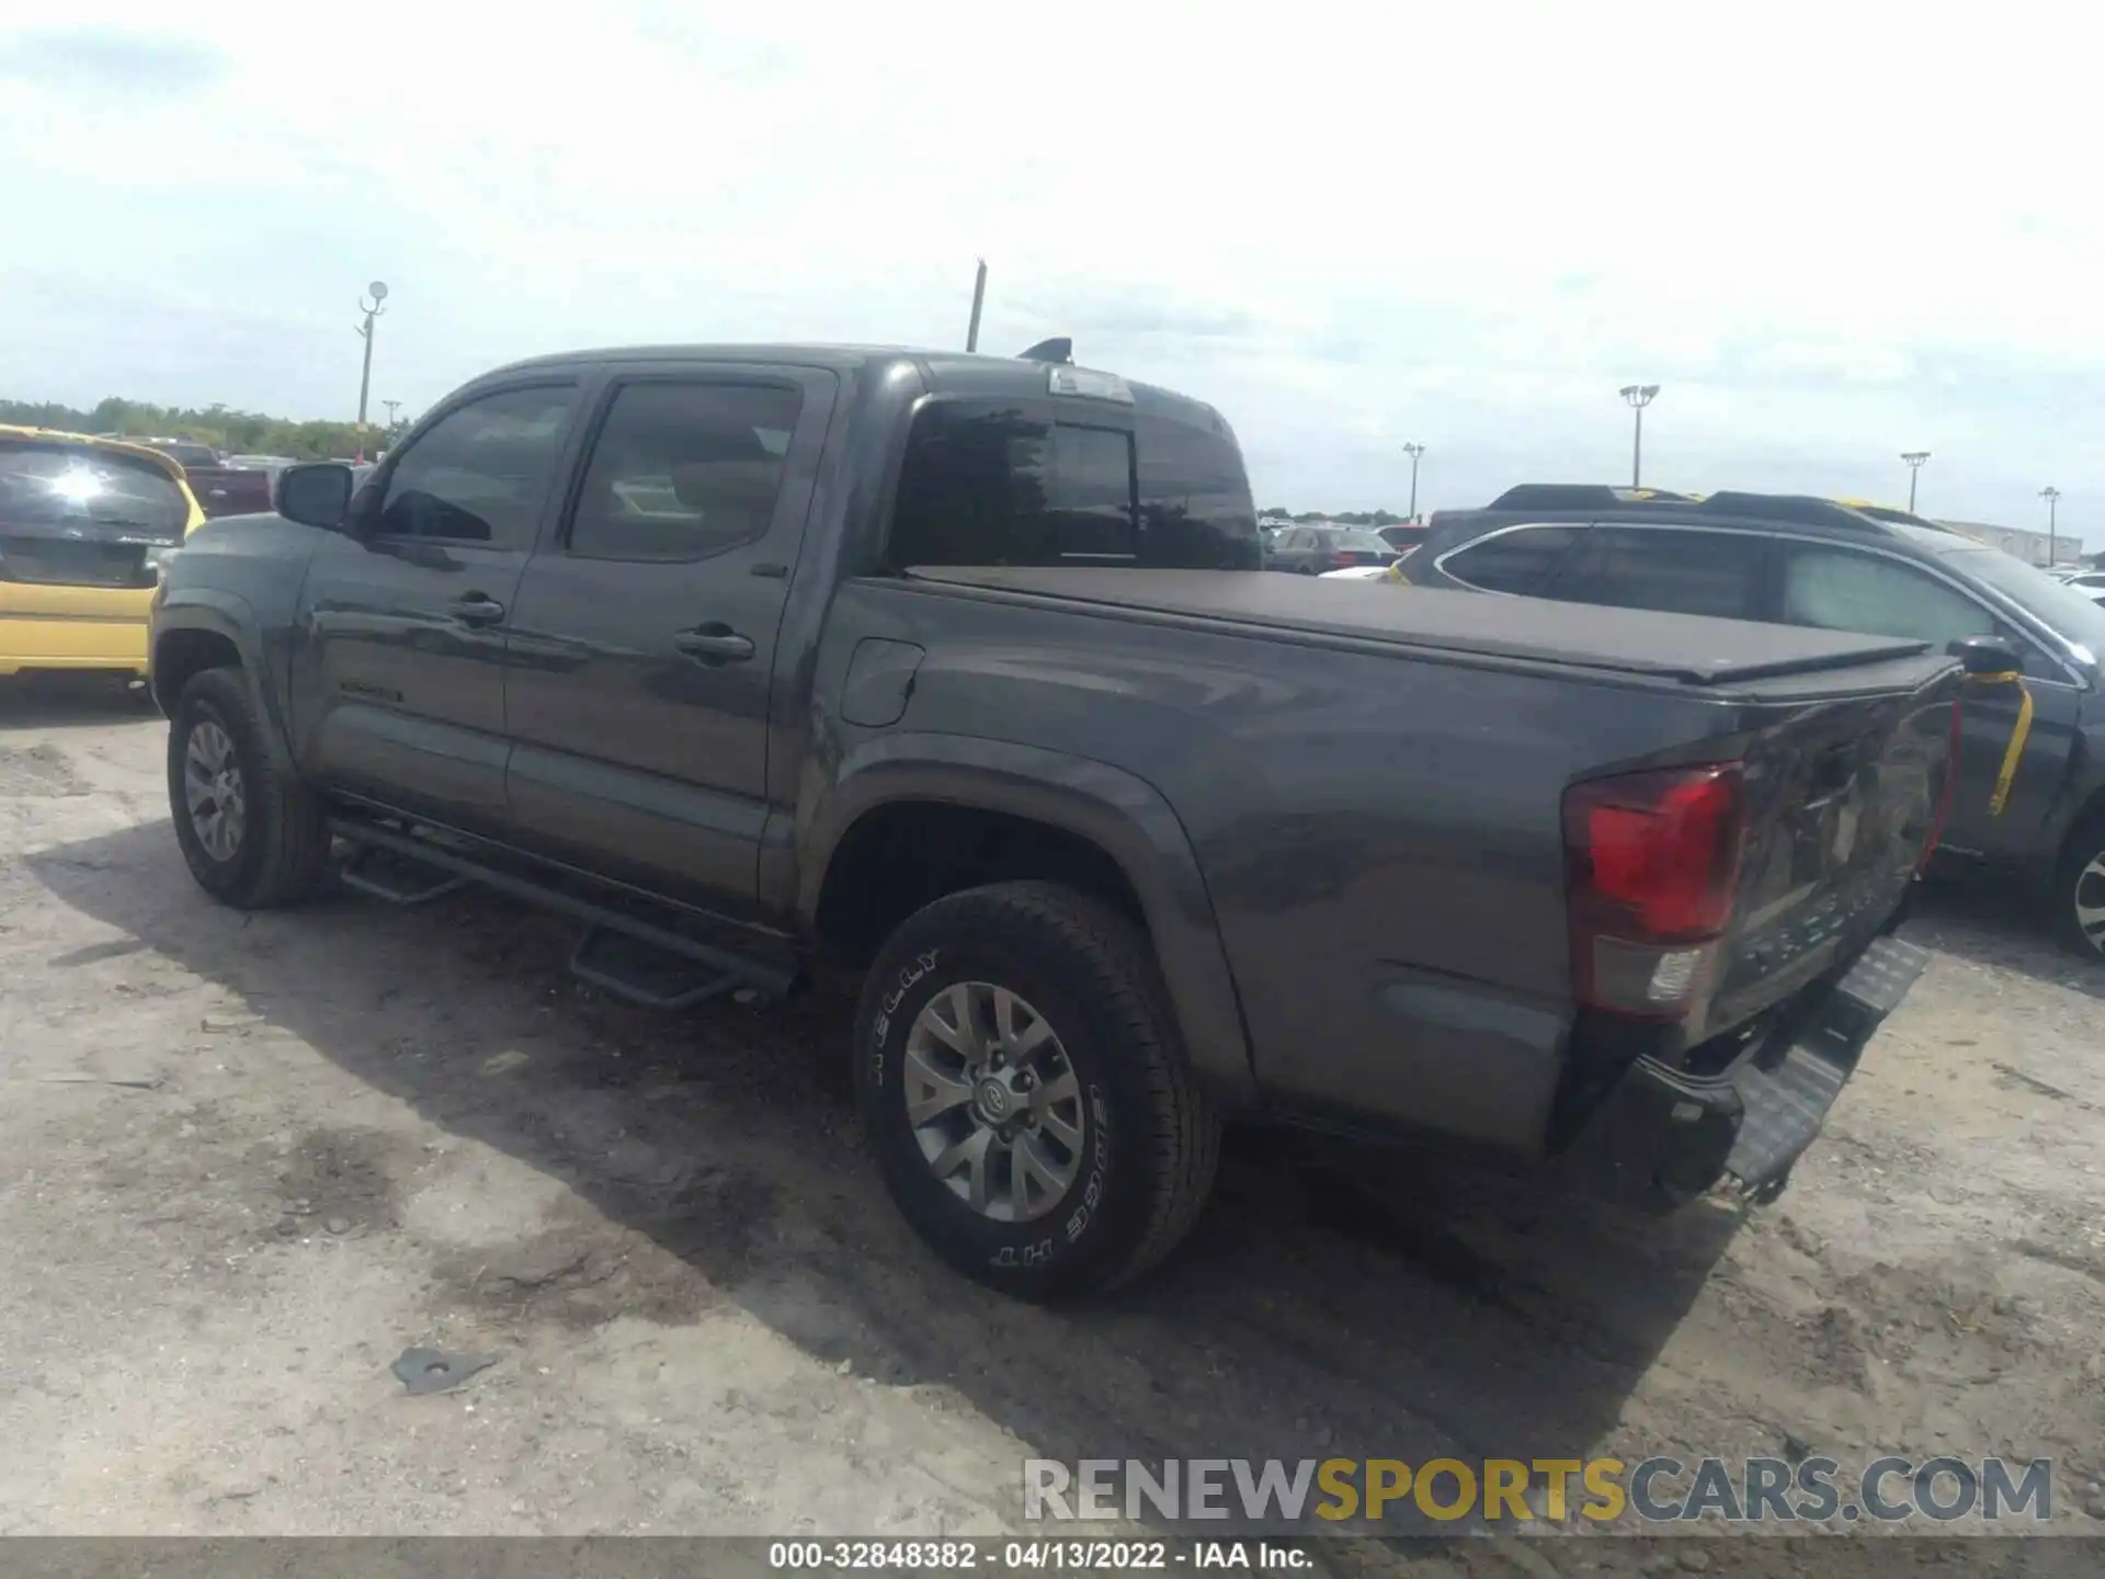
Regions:
[[[1160, 792], [1109, 764], [1029, 745], [886, 737], [874, 747], [850, 758], [802, 819], [798, 920], [813, 937], [867, 958], [890, 926], [943, 895], [1059, 882], [1139, 924], [1194, 1070], [1223, 1107], [1255, 1105], [1248, 1032], [1212, 899]], [[933, 872], [911, 859], [930, 842], [941, 853]], [[855, 899], [871, 888], [876, 899]]]

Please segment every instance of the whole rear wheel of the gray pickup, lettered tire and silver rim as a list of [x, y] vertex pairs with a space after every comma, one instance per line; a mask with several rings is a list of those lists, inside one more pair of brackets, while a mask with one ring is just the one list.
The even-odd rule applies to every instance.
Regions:
[[855, 1048], [884, 1183], [966, 1276], [1097, 1293], [1198, 1221], [1219, 1120], [1154, 950], [1107, 905], [1000, 882], [916, 912], [863, 983]]

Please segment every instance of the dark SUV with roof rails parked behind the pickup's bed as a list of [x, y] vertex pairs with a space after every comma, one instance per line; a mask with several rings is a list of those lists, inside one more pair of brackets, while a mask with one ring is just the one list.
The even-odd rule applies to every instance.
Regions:
[[[2017, 684], [1977, 684], [1941, 863], [2042, 888], [2057, 933], [2105, 956], [2105, 608], [1920, 516], [1800, 495], [1528, 484], [1442, 512], [1404, 575], [1421, 587], [2010, 646]], [[2029, 726], [2008, 787], [2004, 758]], [[1998, 804], [2000, 802], [2000, 804]]]

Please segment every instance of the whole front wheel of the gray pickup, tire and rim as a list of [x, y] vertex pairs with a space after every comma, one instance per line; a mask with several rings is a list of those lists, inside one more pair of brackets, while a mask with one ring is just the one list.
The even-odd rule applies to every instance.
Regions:
[[328, 819], [269, 756], [240, 669], [202, 669], [168, 722], [168, 811], [189, 874], [238, 910], [293, 905], [328, 861]]

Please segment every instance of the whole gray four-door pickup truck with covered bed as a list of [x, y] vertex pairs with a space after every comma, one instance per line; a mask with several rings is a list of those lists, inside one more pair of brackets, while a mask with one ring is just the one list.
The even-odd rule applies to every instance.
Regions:
[[286, 469], [154, 604], [189, 870], [488, 884], [644, 1002], [867, 966], [878, 1168], [1021, 1295], [1231, 1120], [1779, 1190], [1922, 968], [1960, 665], [1259, 575], [1210, 406], [1038, 358], [554, 356]]

